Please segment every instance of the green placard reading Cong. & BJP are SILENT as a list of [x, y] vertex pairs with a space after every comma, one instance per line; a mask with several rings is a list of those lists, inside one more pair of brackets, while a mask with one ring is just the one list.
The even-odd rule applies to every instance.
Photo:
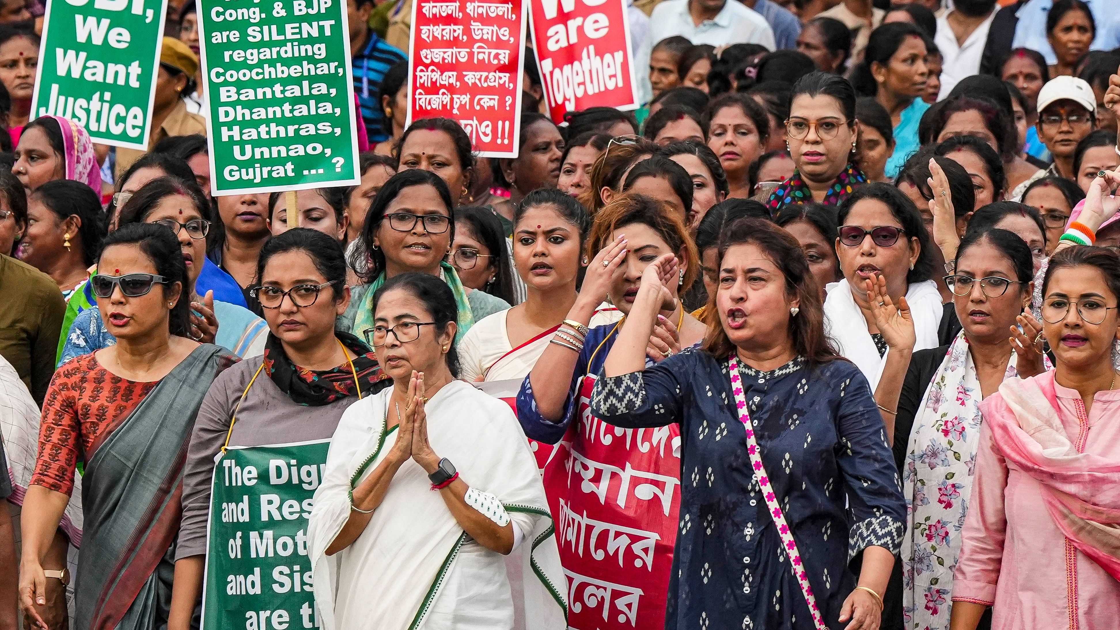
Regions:
[[340, 0], [202, 0], [214, 195], [358, 184]]

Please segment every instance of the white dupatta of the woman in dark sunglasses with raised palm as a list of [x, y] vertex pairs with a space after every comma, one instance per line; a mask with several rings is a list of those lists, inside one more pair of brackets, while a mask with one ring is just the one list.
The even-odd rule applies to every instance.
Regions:
[[[824, 329], [836, 341], [840, 355], [856, 364], [867, 377], [871, 392], [875, 392], [890, 350], [879, 356], [871, 333], [867, 331], [864, 311], [859, 310], [859, 304], [852, 298], [851, 285], [847, 279], [829, 284], [827, 290]], [[916, 336], [914, 351], [936, 348], [937, 326], [941, 325], [941, 316], [944, 312], [936, 283], [932, 280], [911, 283], [906, 290], [906, 303], [909, 305], [911, 317], [914, 318]]]

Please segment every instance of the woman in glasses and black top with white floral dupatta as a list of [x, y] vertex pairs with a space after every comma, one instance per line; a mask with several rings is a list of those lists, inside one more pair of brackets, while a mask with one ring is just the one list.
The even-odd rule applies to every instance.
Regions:
[[[914, 352], [905, 379], [892, 380], [889, 391], [880, 386], [876, 396], [884, 417], [895, 423], [895, 464], [912, 506], [902, 563], [886, 598], [887, 617], [902, 619], [906, 610], [918, 628], [949, 628], [952, 570], [961, 551], [954, 527], [972, 492], [980, 401], [1020, 368], [1026, 375], [1044, 369], [1034, 346], [1016, 354], [1008, 336], [1009, 330], [1018, 333], [1016, 318], [1034, 289], [1030, 250], [1023, 238], [1006, 229], [969, 231], [954, 264], [945, 282], [963, 330], [948, 345]], [[905, 345], [914, 338], [913, 322], [899, 316], [881, 285], [872, 288], [876, 323], [885, 335], [904, 336]]]

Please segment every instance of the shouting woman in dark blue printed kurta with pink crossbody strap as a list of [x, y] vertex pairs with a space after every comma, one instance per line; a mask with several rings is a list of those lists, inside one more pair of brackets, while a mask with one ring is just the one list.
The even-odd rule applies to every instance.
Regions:
[[877, 629], [906, 505], [801, 245], [769, 222], [728, 226], [703, 344], [651, 366], [645, 339], [676, 301], [678, 264], [666, 253], [644, 270], [590, 396], [605, 422], [681, 432], [665, 628]]

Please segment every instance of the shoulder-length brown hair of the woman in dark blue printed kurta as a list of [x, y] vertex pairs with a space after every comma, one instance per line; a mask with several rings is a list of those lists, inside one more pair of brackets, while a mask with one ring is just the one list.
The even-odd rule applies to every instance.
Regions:
[[[755, 245], [762, 250], [785, 278], [786, 295], [797, 299], [797, 316], [791, 317], [788, 323], [794, 352], [814, 366], [841, 358], [824, 332], [824, 307], [820, 291], [797, 239], [768, 220], [740, 218], [725, 226], [717, 260], [722, 263], [727, 251], [736, 245]], [[718, 291], [708, 297], [706, 312], [716, 313], [717, 295]], [[700, 349], [719, 360], [735, 351], [735, 345], [718, 317], [708, 320], [708, 333]]]

